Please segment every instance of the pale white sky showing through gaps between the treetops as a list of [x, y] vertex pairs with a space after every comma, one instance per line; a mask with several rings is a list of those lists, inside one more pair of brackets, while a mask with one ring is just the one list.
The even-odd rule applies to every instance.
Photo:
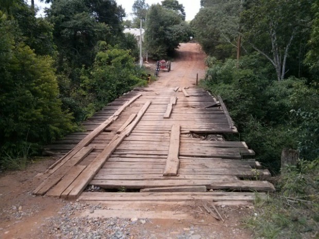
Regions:
[[[151, 6], [152, 4], [161, 3], [162, 1], [163, 0], [160, 0], [160, 1], [146, 0], [145, 2]], [[28, 1], [28, 3], [29, 2], [30, 1]], [[135, 2], [135, 0], [116, 0], [116, 2], [118, 5], [122, 5], [122, 7], [125, 9], [125, 12], [127, 13], [127, 15], [130, 15], [132, 13], [132, 6], [133, 6], [133, 3]], [[46, 6], [48, 7], [48, 5], [45, 3], [41, 3], [40, 0], [34, 0], [34, 3], [40, 9], [40, 11], [38, 12], [38, 15], [44, 16], [43, 10]], [[185, 8], [186, 21], [192, 20], [194, 18], [194, 16], [196, 15], [196, 13], [198, 13], [198, 11], [200, 9], [200, 0], [179, 0], [179, 3], [183, 4], [183, 6]]]

